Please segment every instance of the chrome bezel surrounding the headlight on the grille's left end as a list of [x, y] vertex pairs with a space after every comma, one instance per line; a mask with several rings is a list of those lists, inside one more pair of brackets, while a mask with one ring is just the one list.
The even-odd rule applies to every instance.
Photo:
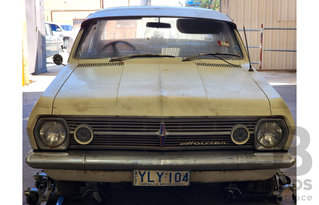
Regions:
[[[63, 125], [63, 127], [65, 129], [65, 133], [66, 133], [65, 140], [59, 146], [47, 146], [40, 139], [41, 137], [40, 137], [40, 133], [39, 132], [40, 132], [41, 126], [44, 125], [45, 123], [49, 122], [49, 121], [59, 122], [59, 123], [61, 123]], [[52, 149], [66, 150], [69, 147], [69, 145], [70, 145], [69, 127], [68, 127], [68, 124], [67, 124], [66, 120], [64, 120], [63, 118], [49, 118], [49, 117], [40, 118], [38, 120], [37, 124], [34, 127], [33, 134], [34, 134], [34, 138], [35, 138], [35, 141], [36, 141], [37, 146], [38, 146], [39, 149], [43, 149], [43, 150], [52, 150]]]

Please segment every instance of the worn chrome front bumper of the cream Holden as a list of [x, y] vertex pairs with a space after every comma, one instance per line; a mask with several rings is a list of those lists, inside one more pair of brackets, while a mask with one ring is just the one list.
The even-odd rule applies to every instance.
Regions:
[[41, 169], [77, 170], [236, 170], [288, 168], [287, 152], [253, 151], [82, 151], [30, 152], [26, 164]]

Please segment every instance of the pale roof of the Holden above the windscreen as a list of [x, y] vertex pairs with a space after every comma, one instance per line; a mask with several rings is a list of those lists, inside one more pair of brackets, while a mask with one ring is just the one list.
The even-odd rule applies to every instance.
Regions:
[[82, 23], [90, 19], [103, 17], [186, 17], [186, 18], [206, 18], [226, 21], [234, 24], [232, 19], [225, 14], [198, 7], [182, 7], [182, 6], [123, 6], [102, 9], [89, 15]]

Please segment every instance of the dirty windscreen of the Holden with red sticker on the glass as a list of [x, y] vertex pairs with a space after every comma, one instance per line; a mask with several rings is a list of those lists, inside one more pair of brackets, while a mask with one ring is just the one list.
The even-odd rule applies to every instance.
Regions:
[[147, 17], [87, 22], [75, 57], [118, 57], [139, 53], [187, 57], [212, 52], [240, 56], [219, 56], [223, 58], [243, 58], [234, 25], [209, 19]]

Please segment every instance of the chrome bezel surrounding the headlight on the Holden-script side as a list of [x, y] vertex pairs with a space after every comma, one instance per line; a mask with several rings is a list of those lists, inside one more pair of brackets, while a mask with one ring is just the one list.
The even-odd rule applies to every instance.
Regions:
[[[282, 128], [282, 131], [283, 131], [283, 138], [281, 140], [281, 142], [276, 145], [275, 147], [264, 147], [263, 145], [261, 145], [259, 143], [259, 140], [257, 139], [257, 132], [258, 132], [258, 129], [259, 127], [264, 124], [265, 122], [276, 122], [278, 123], [281, 128]], [[288, 128], [287, 128], [287, 125], [286, 125], [286, 122], [285, 120], [281, 119], [281, 118], [267, 118], [267, 119], [259, 119], [256, 123], [256, 127], [255, 127], [255, 130], [254, 130], [254, 145], [255, 145], [255, 148], [258, 149], [258, 150], [265, 150], [265, 149], [276, 149], [276, 150], [280, 150], [280, 149], [283, 149], [285, 144], [286, 144], [286, 141], [288, 139], [288, 134], [289, 134], [289, 131], [288, 131]]]

